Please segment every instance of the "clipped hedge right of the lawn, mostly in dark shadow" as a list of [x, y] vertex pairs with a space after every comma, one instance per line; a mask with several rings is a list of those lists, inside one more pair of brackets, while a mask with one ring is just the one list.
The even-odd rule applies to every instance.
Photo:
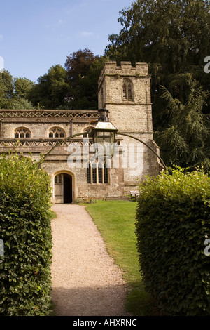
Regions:
[[146, 290], [164, 315], [209, 315], [210, 178], [177, 168], [140, 185], [137, 249]]

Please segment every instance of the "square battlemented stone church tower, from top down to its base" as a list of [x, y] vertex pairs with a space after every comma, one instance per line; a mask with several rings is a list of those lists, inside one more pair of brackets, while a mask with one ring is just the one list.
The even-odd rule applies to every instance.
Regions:
[[[121, 62], [120, 66], [116, 62], [106, 62], [99, 78], [98, 95], [99, 108], [110, 111], [109, 119], [119, 132], [140, 138], [159, 154], [153, 141], [151, 77], [146, 63], [137, 62], [132, 67], [131, 62]], [[134, 143], [135, 140], [127, 136], [121, 143], [125, 145], [124, 152], [130, 155], [124, 170], [127, 192], [137, 184], [137, 179], [160, 173], [160, 164], [153, 152], [141, 143], [137, 143], [138, 147]]]

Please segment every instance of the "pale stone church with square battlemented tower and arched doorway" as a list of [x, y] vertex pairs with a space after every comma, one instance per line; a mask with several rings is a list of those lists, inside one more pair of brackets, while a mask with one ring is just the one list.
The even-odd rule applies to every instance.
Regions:
[[[120, 66], [106, 62], [99, 77], [98, 101], [99, 109], [109, 110], [118, 133], [140, 138], [159, 154], [153, 141], [151, 77], [146, 63], [132, 67], [130, 62]], [[86, 140], [81, 135], [62, 142], [42, 164], [51, 177], [52, 202], [127, 198], [131, 190], [137, 190], [138, 180], [157, 176], [162, 166], [146, 145], [120, 134], [110, 168], [99, 165], [97, 159], [89, 161], [94, 152], [90, 149], [87, 154], [92, 145], [88, 131], [98, 117], [97, 110], [0, 110], [0, 152], [18, 150], [25, 156], [30, 152], [39, 161], [55, 143], [84, 132]]]

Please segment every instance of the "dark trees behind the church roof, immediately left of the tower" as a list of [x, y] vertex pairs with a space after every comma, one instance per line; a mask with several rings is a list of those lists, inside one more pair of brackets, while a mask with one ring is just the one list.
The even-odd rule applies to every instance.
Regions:
[[71, 53], [65, 69], [52, 65], [47, 74], [38, 78], [38, 84], [27, 93], [29, 101], [44, 109], [97, 109], [98, 79], [105, 60], [87, 48]]

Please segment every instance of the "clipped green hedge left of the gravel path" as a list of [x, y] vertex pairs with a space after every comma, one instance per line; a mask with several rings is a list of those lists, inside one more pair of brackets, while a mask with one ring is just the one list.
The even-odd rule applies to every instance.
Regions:
[[0, 159], [0, 315], [50, 313], [50, 178], [18, 154]]

